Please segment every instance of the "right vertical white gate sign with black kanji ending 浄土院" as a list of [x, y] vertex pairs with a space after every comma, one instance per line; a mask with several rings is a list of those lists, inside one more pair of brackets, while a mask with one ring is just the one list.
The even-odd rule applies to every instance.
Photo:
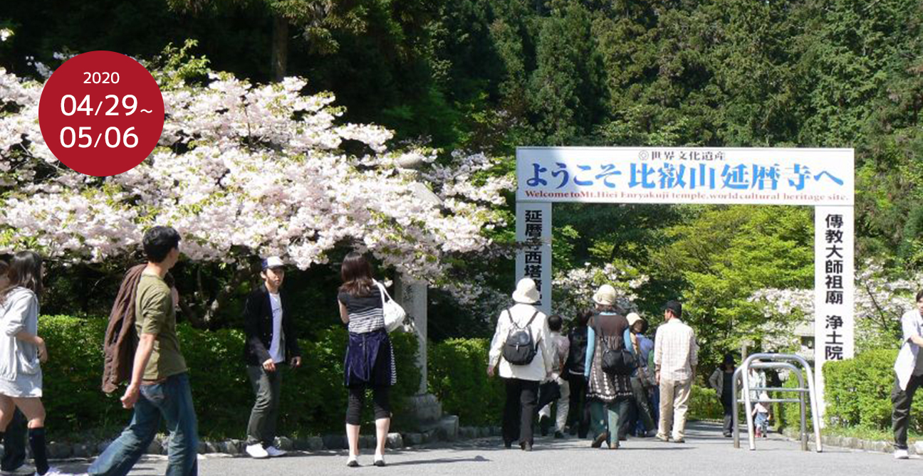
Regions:
[[851, 359], [853, 208], [814, 208], [814, 369], [823, 412], [823, 363]]

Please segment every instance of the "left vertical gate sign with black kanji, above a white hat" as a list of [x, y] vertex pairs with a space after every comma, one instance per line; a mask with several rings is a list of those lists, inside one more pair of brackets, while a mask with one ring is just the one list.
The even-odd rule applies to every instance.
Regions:
[[535, 304], [545, 315], [551, 313], [551, 204], [516, 204], [516, 281], [532, 278], [541, 292]]

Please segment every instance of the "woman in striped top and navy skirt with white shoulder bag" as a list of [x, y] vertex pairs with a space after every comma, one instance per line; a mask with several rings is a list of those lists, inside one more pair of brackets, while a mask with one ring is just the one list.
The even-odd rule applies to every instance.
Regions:
[[349, 388], [346, 410], [349, 459], [346, 465], [351, 468], [359, 466], [359, 425], [366, 388], [371, 388], [378, 436], [375, 466], [385, 466], [385, 443], [391, 422], [388, 394], [390, 386], [397, 382], [394, 351], [385, 330], [385, 298], [378, 283], [372, 279], [372, 267], [359, 253], [350, 253], [343, 259], [341, 275], [343, 284], [337, 301], [340, 303], [340, 318], [349, 328], [349, 344], [343, 365], [344, 383]]

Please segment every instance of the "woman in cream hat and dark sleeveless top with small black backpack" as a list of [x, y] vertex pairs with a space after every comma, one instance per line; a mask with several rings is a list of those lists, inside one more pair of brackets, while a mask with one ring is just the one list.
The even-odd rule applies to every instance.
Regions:
[[583, 375], [589, 378], [586, 399], [590, 402], [590, 431], [595, 434], [593, 447], [618, 447], [619, 422], [625, 418], [631, 399], [629, 374], [610, 374], [603, 371], [604, 351], [630, 349], [629, 321], [617, 312], [616, 290], [608, 284], [593, 294], [596, 315], [587, 330], [586, 367]]

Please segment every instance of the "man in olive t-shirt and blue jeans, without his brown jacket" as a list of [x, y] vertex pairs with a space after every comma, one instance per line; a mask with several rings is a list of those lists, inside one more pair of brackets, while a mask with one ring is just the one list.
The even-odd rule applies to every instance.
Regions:
[[150, 446], [161, 420], [170, 431], [171, 476], [197, 476], [198, 425], [186, 360], [176, 339], [174, 294], [163, 280], [179, 259], [179, 233], [155, 226], [144, 233], [148, 266], [138, 281], [135, 329], [138, 350], [122, 406], [135, 414], [122, 435], [90, 466], [92, 475], [126, 476]]

